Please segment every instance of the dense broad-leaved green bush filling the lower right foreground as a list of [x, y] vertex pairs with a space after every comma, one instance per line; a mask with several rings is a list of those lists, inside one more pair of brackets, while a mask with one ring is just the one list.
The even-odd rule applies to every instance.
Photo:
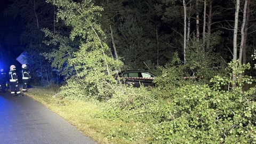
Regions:
[[[153, 125], [154, 139], [163, 143], [255, 143], [256, 90], [243, 90], [244, 83], [250, 84], [252, 79], [238, 75], [249, 67], [236, 62], [229, 66], [229, 75], [211, 79], [213, 86], [190, 83], [176, 87], [169, 102], [159, 106], [164, 117]], [[236, 87], [223, 89], [234, 83]]]

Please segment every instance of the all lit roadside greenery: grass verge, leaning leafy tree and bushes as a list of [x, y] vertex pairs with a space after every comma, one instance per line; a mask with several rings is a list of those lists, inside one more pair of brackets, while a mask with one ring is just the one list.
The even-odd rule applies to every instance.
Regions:
[[[191, 37], [184, 60], [173, 52], [163, 66], [144, 62], [157, 72], [156, 87], [134, 88], [115, 79], [116, 71], [139, 65], [125, 65], [117, 53], [114, 57], [100, 24], [102, 7], [92, 1], [47, 2], [58, 7], [57, 20], [71, 28], [68, 35], [43, 29], [44, 43], [55, 47], [43, 55], [65, 84], [53, 98], [35, 98], [86, 135], [100, 143], [255, 143], [256, 90], [250, 87], [254, 79], [246, 75], [252, 68], [214, 52], [220, 32]], [[207, 51], [206, 41], [211, 41]], [[137, 49], [147, 42], [140, 41]]]

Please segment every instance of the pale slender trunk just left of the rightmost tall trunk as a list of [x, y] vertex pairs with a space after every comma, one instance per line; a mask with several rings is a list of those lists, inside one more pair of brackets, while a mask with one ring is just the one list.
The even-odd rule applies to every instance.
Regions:
[[[236, 11], [235, 11], [235, 27], [234, 27], [234, 38], [233, 38], [233, 60], [237, 60], [237, 29], [238, 29], [238, 15], [239, 15], [240, 0], [236, 0]], [[233, 82], [236, 81], [236, 73], [233, 71], [232, 79]], [[236, 83], [232, 85], [233, 88], [236, 87]]]

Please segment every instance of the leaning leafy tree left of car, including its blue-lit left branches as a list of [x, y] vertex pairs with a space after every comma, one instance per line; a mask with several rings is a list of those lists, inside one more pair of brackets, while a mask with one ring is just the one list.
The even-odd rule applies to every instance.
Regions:
[[51, 39], [46, 44], [58, 47], [44, 55], [67, 79], [61, 94], [69, 99], [108, 99], [111, 97], [109, 84], [116, 83], [113, 71], [119, 69], [122, 62], [113, 58], [105, 42], [99, 23], [102, 7], [95, 6], [91, 0], [47, 2], [58, 7], [57, 21], [63, 22], [69, 33], [67, 37], [43, 30]]

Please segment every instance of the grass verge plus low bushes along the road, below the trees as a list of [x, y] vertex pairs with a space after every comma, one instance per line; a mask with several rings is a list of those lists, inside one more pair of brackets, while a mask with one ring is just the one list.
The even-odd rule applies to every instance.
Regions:
[[185, 67], [173, 61], [156, 87], [113, 85], [108, 99], [77, 99], [53, 86], [29, 95], [100, 143], [255, 143], [254, 79], [237, 75], [234, 82], [234, 70], [250, 68], [236, 63], [205, 81], [176, 78]]

